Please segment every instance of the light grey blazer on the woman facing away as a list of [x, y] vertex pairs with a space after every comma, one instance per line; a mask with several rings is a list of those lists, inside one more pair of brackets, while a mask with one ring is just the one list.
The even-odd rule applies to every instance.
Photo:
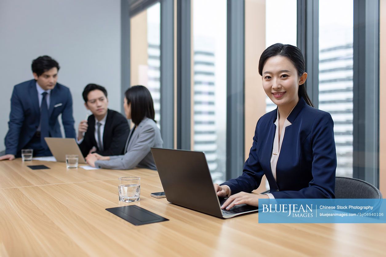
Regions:
[[162, 148], [162, 144], [161, 131], [156, 123], [144, 118], [134, 131], [130, 131], [124, 155], [110, 156], [108, 161], [95, 161], [95, 166], [112, 170], [130, 170], [135, 167], [156, 170], [150, 148]]

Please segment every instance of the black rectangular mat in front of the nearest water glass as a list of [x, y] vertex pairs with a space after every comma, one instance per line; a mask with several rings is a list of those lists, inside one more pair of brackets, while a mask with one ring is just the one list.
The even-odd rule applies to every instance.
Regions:
[[120, 218], [132, 223], [135, 226], [168, 220], [156, 213], [138, 207], [137, 205], [127, 205], [115, 208], [107, 208], [107, 211], [117, 215]]

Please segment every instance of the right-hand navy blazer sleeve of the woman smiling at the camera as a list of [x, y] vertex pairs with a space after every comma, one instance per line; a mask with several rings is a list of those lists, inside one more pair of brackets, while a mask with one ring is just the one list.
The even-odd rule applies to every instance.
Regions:
[[334, 140], [334, 121], [329, 113], [315, 119], [312, 130], [312, 176], [308, 187], [299, 191], [271, 192], [275, 198], [335, 198], [337, 157]]

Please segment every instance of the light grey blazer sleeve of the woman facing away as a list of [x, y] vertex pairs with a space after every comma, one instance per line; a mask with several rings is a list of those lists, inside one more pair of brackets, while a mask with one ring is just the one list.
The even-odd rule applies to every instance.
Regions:
[[95, 166], [112, 170], [130, 170], [135, 168], [154, 145], [156, 131], [153, 126], [144, 126], [143, 131], [139, 134], [134, 146], [123, 157], [110, 159], [108, 161], [96, 161]]

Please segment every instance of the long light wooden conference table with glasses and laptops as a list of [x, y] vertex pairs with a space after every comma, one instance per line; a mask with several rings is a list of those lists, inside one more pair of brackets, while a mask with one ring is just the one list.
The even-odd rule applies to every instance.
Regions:
[[[30, 170], [46, 165], [50, 170]], [[118, 177], [141, 177], [141, 200], [118, 200]], [[259, 224], [220, 219], [153, 198], [156, 171], [67, 170], [0, 162], [0, 256], [384, 255], [386, 224]], [[135, 204], [169, 221], [134, 226], [106, 208]]]

